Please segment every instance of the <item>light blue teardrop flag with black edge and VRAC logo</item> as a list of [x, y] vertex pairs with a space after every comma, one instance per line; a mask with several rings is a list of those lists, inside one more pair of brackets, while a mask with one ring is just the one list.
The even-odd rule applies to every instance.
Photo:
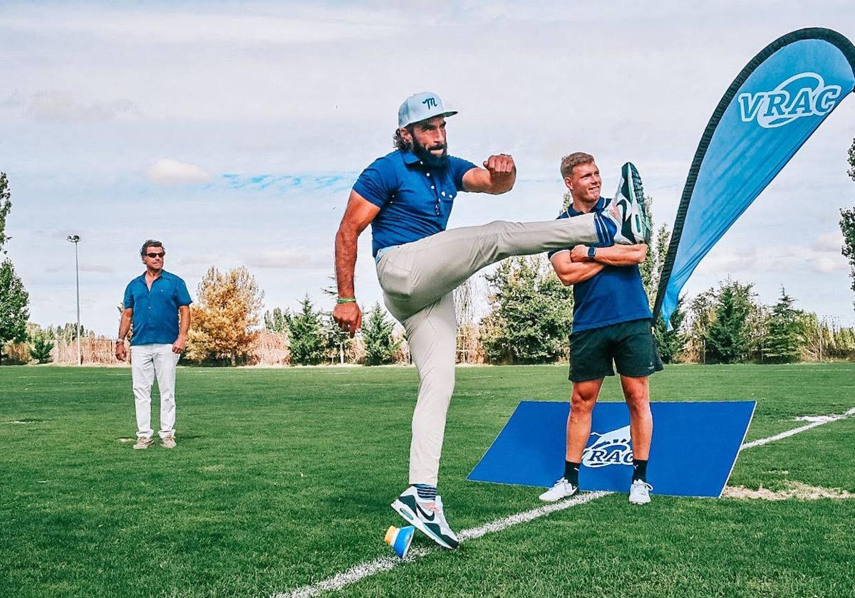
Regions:
[[701, 136], [653, 308], [670, 329], [683, 285], [713, 245], [855, 88], [855, 46], [830, 29], [787, 33], [748, 62]]

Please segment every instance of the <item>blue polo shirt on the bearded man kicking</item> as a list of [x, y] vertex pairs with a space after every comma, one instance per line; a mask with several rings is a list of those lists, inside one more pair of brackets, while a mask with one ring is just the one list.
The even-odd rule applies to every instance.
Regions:
[[428, 167], [412, 151], [395, 150], [363, 170], [353, 191], [380, 208], [371, 222], [371, 251], [403, 245], [445, 231], [463, 174], [475, 164], [453, 155]]

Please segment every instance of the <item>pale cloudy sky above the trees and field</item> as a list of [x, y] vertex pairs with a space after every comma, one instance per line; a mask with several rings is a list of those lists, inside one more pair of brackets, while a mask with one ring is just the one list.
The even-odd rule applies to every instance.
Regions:
[[[245, 266], [265, 308], [329, 308], [333, 236], [351, 185], [392, 150], [398, 105], [433, 91], [449, 150], [514, 156], [512, 191], [461, 194], [450, 227], [551, 220], [561, 156], [596, 156], [604, 194], [633, 161], [673, 223], [713, 108], [765, 45], [804, 26], [855, 39], [855, 3], [0, 3], [0, 171], [9, 256], [31, 320], [115, 336], [116, 306], [162, 240], [193, 296]], [[774, 6], [774, 9], [770, 8]], [[701, 262], [691, 296], [727, 278], [758, 301], [855, 325], [839, 209], [855, 100], [830, 114]], [[363, 307], [380, 299], [363, 234]]]

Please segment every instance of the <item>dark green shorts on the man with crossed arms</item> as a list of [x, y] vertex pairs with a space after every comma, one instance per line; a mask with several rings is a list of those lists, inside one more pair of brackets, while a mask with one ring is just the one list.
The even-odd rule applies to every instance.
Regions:
[[570, 381], [585, 382], [617, 373], [631, 378], [662, 370], [650, 320], [632, 320], [570, 335]]

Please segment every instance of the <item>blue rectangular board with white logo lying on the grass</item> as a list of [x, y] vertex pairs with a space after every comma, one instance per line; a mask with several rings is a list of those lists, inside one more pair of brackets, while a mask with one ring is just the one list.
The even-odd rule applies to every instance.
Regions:
[[[647, 481], [656, 494], [722, 494], [751, 423], [753, 401], [653, 402]], [[566, 402], [523, 401], [469, 480], [547, 488], [561, 478], [567, 447]], [[627, 492], [632, 478], [629, 409], [599, 402], [582, 455], [581, 490]]]

